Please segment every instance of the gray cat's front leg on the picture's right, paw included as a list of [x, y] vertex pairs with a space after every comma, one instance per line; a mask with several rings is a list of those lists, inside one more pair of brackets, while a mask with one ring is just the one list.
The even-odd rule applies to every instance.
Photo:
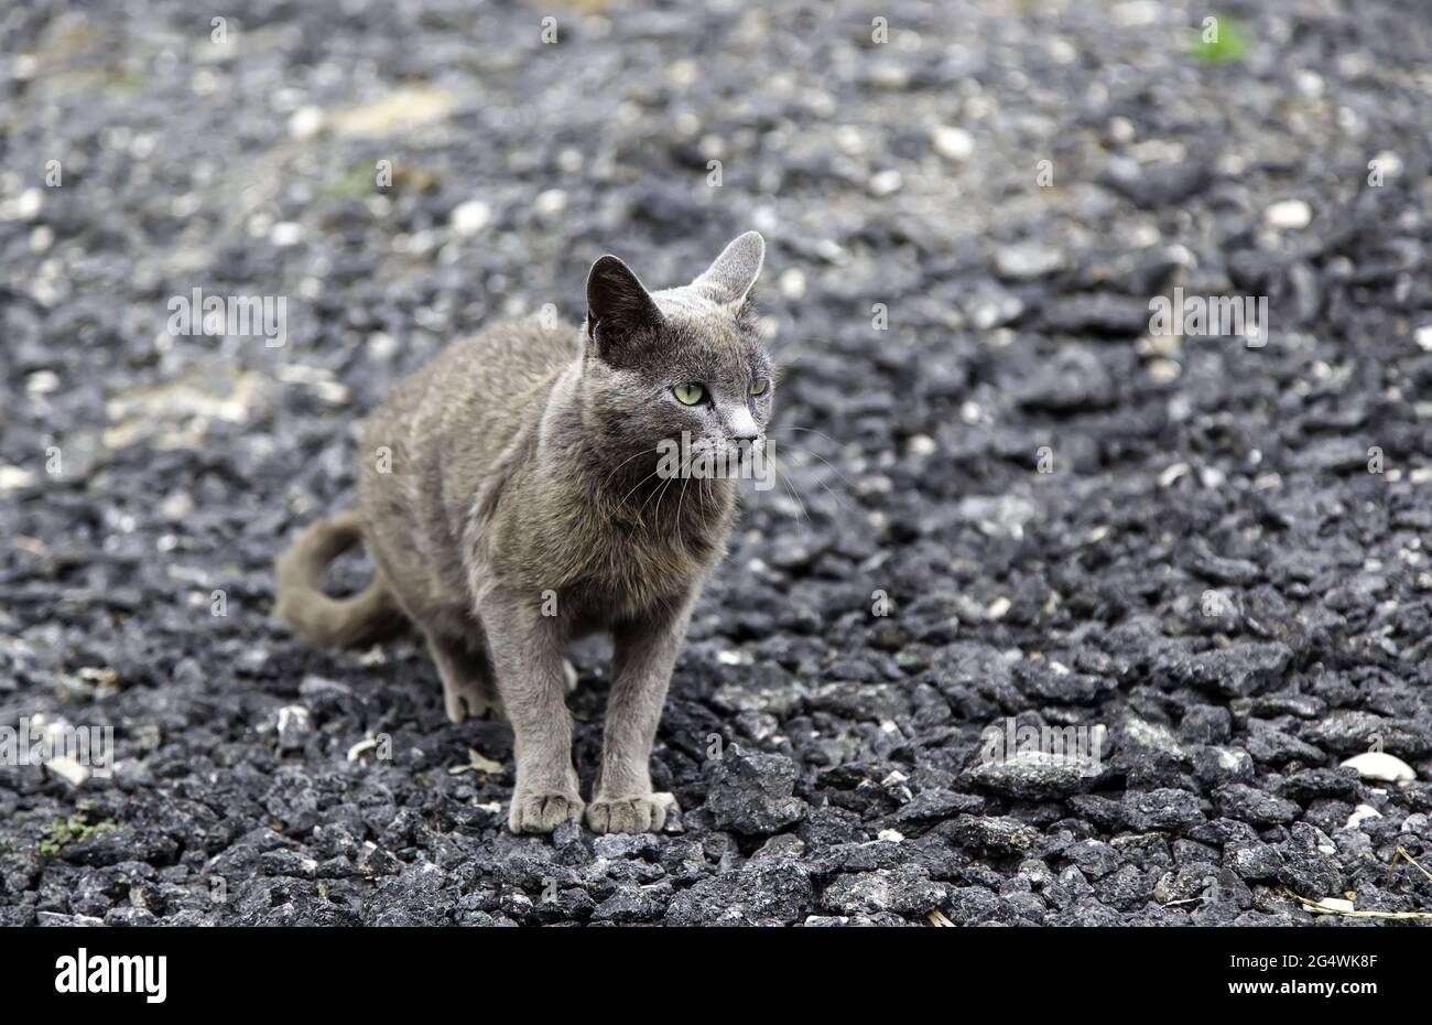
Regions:
[[686, 602], [613, 631], [601, 764], [587, 806], [587, 827], [593, 833], [660, 830], [676, 806], [672, 794], [652, 791], [652, 744], [689, 615]]

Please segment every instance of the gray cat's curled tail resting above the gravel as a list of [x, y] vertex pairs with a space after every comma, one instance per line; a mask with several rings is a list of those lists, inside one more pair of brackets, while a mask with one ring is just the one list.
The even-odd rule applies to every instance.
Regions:
[[372, 582], [351, 598], [329, 598], [319, 583], [328, 563], [362, 540], [362, 519], [342, 512], [309, 523], [275, 565], [278, 612], [295, 634], [319, 648], [361, 648], [405, 625], [392, 591], [375, 571]]

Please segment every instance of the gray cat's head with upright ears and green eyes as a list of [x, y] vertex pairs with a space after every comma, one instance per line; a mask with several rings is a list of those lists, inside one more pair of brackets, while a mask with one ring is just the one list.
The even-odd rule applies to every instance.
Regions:
[[654, 292], [616, 257], [591, 265], [583, 391], [589, 430], [611, 454], [683, 437], [720, 452], [763, 449], [775, 381], [750, 290], [765, 255], [748, 231], [692, 284]]

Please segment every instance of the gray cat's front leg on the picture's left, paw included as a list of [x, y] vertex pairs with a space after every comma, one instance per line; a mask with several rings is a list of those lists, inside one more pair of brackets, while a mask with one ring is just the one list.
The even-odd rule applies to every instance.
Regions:
[[516, 735], [517, 786], [507, 823], [514, 833], [551, 833], [581, 819], [571, 766], [566, 635], [518, 595], [494, 593], [480, 608], [497, 691]]

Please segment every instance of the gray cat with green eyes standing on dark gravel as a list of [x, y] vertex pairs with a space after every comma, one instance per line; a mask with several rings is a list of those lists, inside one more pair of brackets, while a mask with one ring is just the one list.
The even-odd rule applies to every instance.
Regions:
[[[295, 632], [355, 647], [411, 622], [450, 718], [507, 715], [513, 831], [583, 809], [597, 833], [659, 830], [673, 806], [652, 791], [652, 743], [737, 483], [662, 460], [683, 436], [697, 453], [763, 456], [775, 386], [748, 302], [763, 259], [746, 232], [690, 285], [649, 292], [601, 257], [583, 328], [523, 321], [448, 347], [368, 419], [358, 512], [311, 525], [278, 561]], [[324, 595], [325, 568], [358, 540], [372, 583]], [[593, 631], [613, 638], [611, 692], [584, 806], [566, 648]]]

